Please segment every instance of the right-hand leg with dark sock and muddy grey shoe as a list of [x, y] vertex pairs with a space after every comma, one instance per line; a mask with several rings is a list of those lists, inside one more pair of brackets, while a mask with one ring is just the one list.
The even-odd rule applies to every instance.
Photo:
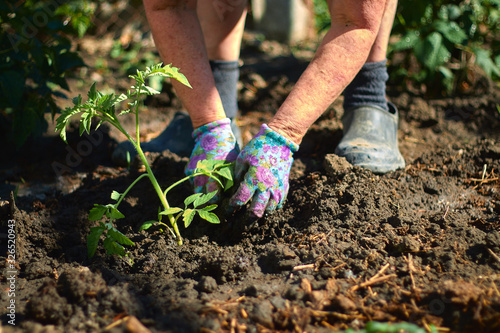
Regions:
[[367, 62], [344, 90], [344, 137], [336, 153], [377, 173], [402, 168], [398, 149], [398, 113], [385, 97], [386, 53], [397, 0], [389, 0]]

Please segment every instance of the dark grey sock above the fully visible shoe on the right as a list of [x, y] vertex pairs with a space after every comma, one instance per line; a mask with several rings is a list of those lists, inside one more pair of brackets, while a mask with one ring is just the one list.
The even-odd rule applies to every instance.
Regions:
[[388, 79], [385, 60], [365, 63], [344, 90], [344, 111], [362, 105], [377, 105], [389, 111], [385, 98]]

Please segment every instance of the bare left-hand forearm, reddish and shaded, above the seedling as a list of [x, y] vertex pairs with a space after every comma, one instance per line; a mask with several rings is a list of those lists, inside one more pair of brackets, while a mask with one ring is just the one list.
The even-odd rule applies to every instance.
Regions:
[[196, 1], [145, 0], [144, 7], [162, 60], [187, 77], [188, 88], [173, 80], [193, 127], [225, 118], [208, 63], [203, 34], [196, 16]]

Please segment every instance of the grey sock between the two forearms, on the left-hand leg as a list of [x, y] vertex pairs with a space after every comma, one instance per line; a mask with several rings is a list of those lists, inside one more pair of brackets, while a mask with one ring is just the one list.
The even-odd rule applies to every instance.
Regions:
[[226, 116], [234, 118], [238, 113], [239, 63], [238, 61], [210, 60], [210, 67]]

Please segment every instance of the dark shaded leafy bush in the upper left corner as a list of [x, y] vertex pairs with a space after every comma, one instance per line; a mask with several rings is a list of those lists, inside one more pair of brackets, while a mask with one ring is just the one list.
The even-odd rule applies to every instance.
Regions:
[[69, 37], [89, 28], [92, 6], [60, 3], [0, 2], [0, 130], [17, 148], [46, 131], [45, 114], [60, 111], [55, 98], [66, 97], [68, 74], [84, 66]]

